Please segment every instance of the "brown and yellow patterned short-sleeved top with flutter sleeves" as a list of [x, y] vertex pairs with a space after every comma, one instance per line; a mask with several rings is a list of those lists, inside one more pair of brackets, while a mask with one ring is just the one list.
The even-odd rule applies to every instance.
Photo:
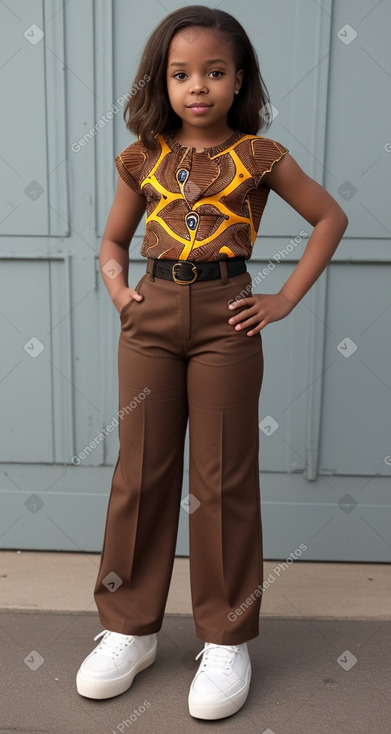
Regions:
[[270, 189], [262, 181], [288, 148], [235, 130], [220, 145], [196, 151], [174, 130], [155, 137], [157, 151], [136, 140], [115, 158], [119, 175], [146, 198], [144, 257], [248, 260]]

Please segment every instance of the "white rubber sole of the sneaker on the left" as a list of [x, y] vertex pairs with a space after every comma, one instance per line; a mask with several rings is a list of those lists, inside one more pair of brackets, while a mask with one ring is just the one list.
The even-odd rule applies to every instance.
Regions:
[[121, 675], [120, 678], [114, 678], [113, 680], [98, 680], [92, 678], [83, 673], [80, 668], [76, 676], [76, 688], [77, 692], [85, 698], [113, 698], [119, 696], [121, 693], [125, 693], [133, 683], [133, 680], [137, 673], [141, 673], [142, 670], [148, 668], [156, 659], [157, 652], [157, 641], [154, 647], [148, 653], [146, 653], [133, 668], [126, 673]]

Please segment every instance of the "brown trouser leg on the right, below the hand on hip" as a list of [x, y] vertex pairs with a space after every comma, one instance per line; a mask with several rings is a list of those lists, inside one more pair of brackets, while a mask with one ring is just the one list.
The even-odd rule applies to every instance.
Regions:
[[217, 644], [240, 644], [259, 633], [262, 339], [248, 337], [250, 327], [235, 331], [227, 308], [243, 288], [251, 295], [250, 283], [246, 273], [204, 293], [193, 289], [191, 304], [190, 493], [198, 500], [189, 514], [191, 591], [197, 636]]

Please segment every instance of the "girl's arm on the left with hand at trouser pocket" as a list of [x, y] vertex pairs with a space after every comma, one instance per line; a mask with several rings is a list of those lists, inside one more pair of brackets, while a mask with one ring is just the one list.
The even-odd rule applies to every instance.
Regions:
[[[129, 298], [142, 296], [128, 287], [129, 244], [144, 214], [145, 196], [138, 194], [118, 176], [116, 195], [107, 218], [99, 251], [99, 265], [103, 281], [117, 311]], [[109, 260], [115, 260], [122, 270], [114, 278], [102, 269]]]

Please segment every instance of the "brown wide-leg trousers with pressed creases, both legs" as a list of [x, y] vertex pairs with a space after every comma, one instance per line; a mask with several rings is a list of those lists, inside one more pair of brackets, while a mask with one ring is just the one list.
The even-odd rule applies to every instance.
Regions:
[[[261, 334], [228, 323], [246, 271], [180, 285], [153, 259], [120, 313], [119, 455], [95, 601], [102, 625], [146, 635], [162, 626], [179, 512], [189, 515], [197, 637], [240, 644], [259, 634], [263, 583], [258, 400]], [[181, 507], [189, 421], [189, 500]], [[252, 595], [252, 596], [251, 596]], [[241, 606], [242, 605], [242, 606]]]

